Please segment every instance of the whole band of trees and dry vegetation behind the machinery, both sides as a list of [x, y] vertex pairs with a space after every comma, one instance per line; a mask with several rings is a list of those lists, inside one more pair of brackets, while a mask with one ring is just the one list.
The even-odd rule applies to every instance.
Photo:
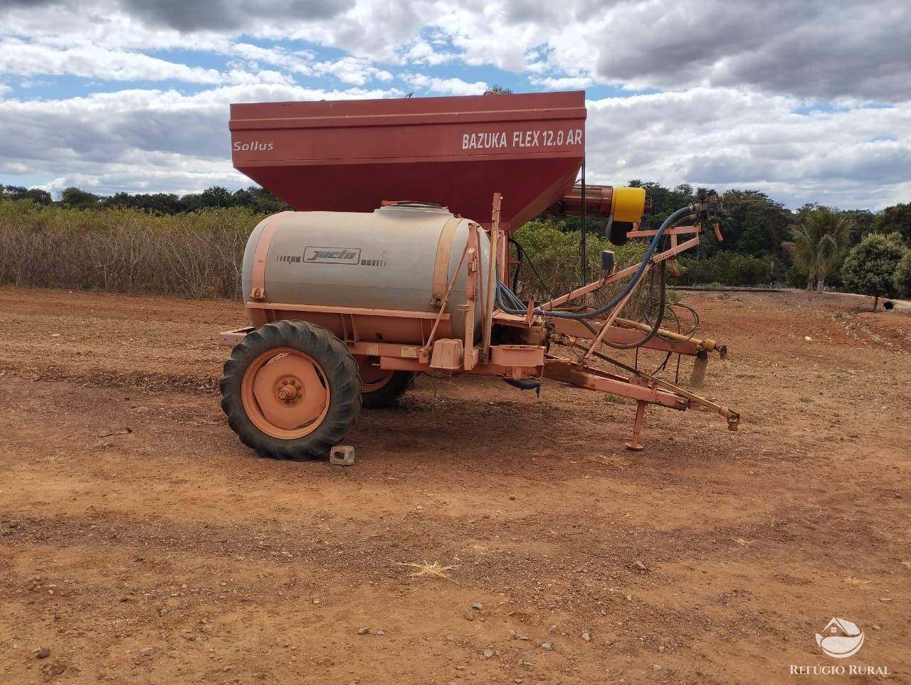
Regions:
[[[696, 199], [686, 184], [666, 188], [634, 179], [630, 185], [652, 199], [643, 228], [658, 228]], [[703, 232], [700, 245], [677, 261], [674, 281], [911, 296], [911, 204], [879, 212], [815, 204], [790, 211], [763, 192], [729, 190], [724, 205], [723, 240]], [[233, 297], [250, 230], [262, 216], [287, 209], [258, 187], [213, 186], [180, 197], [102, 197], [68, 188], [54, 199], [42, 189], [0, 186], [0, 282]], [[541, 299], [581, 282], [579, 223], [578, 217], [539, 217], [518, 231], [528, 258], [519, 285], [527, 295]], [[639, 254], [613, 248], [604, 239], [604, 220], [589, 219], [587, 226], [589, 275], [599, 270], [603, 249], [617, 251], [619, 261]]]

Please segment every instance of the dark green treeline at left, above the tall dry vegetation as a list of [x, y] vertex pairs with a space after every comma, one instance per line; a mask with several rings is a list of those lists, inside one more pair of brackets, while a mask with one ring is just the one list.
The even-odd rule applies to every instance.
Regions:
[[68, 210], [142, 210], [151, 214], [187, 214], [200, 210], [226, 210], [239, 207], [256, 214], [274, 214], [292, 209], [268, 190], [258, 186], [231, 192], [221, 186], [212, 186], [200, 193], [175, 195], [173, 193], [125, 192], [116, 195], [96, 195], [78, 188], [67, 188], [55, 200], [47, 190], [23, 186], [0, 185], [0, 199], [27, 199], [40, 206], [57, 205]]

